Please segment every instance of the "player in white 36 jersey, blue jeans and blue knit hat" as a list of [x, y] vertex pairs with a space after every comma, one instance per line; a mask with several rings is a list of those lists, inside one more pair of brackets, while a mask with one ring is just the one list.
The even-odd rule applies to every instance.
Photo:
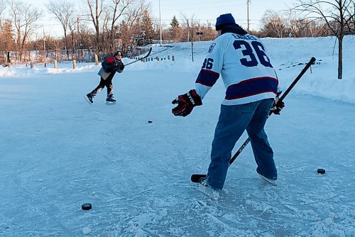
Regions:
[[251, 139], [256, 172], [263, 180], [276, 184], [278, 174], [264, 126], [269, 112], [280, 114], [284, 106], [277, 103], [278, 77], [261, 40], [237, 25], [231, 13], [217, 18], [216, 30], [219, 36], [209, 46], [195, 89], [172, 102], [178, 104], [172, 110], [175, 116], [187, 116], [195, 106], [202, 105], [204, 96], [222, 76], [226, 95], [214, 132], [207, 176], [200, 179], [199, 185], [201, 192], [214, 199], [219, 198], [224, 186], [231, 151], [245, 130]]

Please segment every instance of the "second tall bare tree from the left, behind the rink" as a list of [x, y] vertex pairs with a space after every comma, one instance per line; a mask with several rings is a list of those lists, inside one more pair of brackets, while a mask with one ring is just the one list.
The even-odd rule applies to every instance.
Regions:
[[72, 1], [55, 1], [51, 0], [47, 5], [47, 8], [50, 12], [52, 12], [55, 17], [62, 24], [62, 28], [64, 31], [64, 42], [65, 42], [65, 50], [67, 52], [67, 57], [69, 58], [69, 51], [67, 45], [67, 28], [70, 23], [70, 19], [75, 14], [75, 7], [72, 4]]

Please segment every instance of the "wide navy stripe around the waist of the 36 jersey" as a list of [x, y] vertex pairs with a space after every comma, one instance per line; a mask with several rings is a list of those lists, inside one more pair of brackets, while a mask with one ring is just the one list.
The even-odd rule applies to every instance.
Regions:
[[240, 99], [268, 92], [273, 92], [274, 94], [278, 92], [278, 79], [273, 77], [256, 77], [246, 79], [237, 84], [231, 84], [226, 89], [226, 97], [224, 99]]

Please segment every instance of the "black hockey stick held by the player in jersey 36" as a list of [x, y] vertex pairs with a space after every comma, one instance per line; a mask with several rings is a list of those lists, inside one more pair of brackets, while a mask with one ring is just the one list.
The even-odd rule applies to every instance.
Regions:
[[[285, 92], [283, 92], [283, 94], [281, 95], [280, 99], [278, 100], [278, 103], [280, 103], [281, 101], [283, 101], [283, 99], [285, 99], [285, 97], [288, 95], [288, 93], [290, 93], [291, 89], [293, 89], [293, 87], [295, 87], [295, 84], [301, 79], [301, 77], [305, 74], [305, 72], [308, 70], [308, 68], [310, 68], [310, 66], [315, 62], [315, 57], [312, 57], [310, 59], [310, 62], [307, 63], [307, 65], [305, 65], [305, 67], [302, 69], [302, 71], [300, 72], [300, 74], [296, 77], [296, 79], [290, 84], [290, 87], [288, 87], [288, 89], [286, 89]], [[270, 111], [269, 116], [273, 114], [273, 112]], [[239, 156], [239, 154], [244, 150], [244, 148], [246, 147], [246, 145], [248, 145], [248, 143], [250, 142], [250, 138], [247, 138], [246, 141], [243, 143], [243, 145], [241, 145], [241, 147], [239, 148], [239, 150], [236, 151], [236, 153], [233, 155], [233, 157], [231, 158], [231, 160], [229, 160], [228, 163], [228, 167], [231, 166], [231, 164], [234, 162], [234, 160], [236, 160], [236, 158]], [[191, 181], [192, 182], [199, 182], [200, 178], [202, 177], [206, 177], [206, 175], [199, 175], [199, 174], [194, 174], [191, 175]]]

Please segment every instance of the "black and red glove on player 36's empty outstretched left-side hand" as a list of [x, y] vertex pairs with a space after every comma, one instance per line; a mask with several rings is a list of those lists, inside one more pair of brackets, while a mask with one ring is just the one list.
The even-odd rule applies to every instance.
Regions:
[[191, 113], [195, 106], [202, 105], [202, 100], [195, 89], [190, 89], [190, 92], [180, 94], [171, 104], [178, 104], [178, 106], [171, 110], [175, 116], [185, 117]]

